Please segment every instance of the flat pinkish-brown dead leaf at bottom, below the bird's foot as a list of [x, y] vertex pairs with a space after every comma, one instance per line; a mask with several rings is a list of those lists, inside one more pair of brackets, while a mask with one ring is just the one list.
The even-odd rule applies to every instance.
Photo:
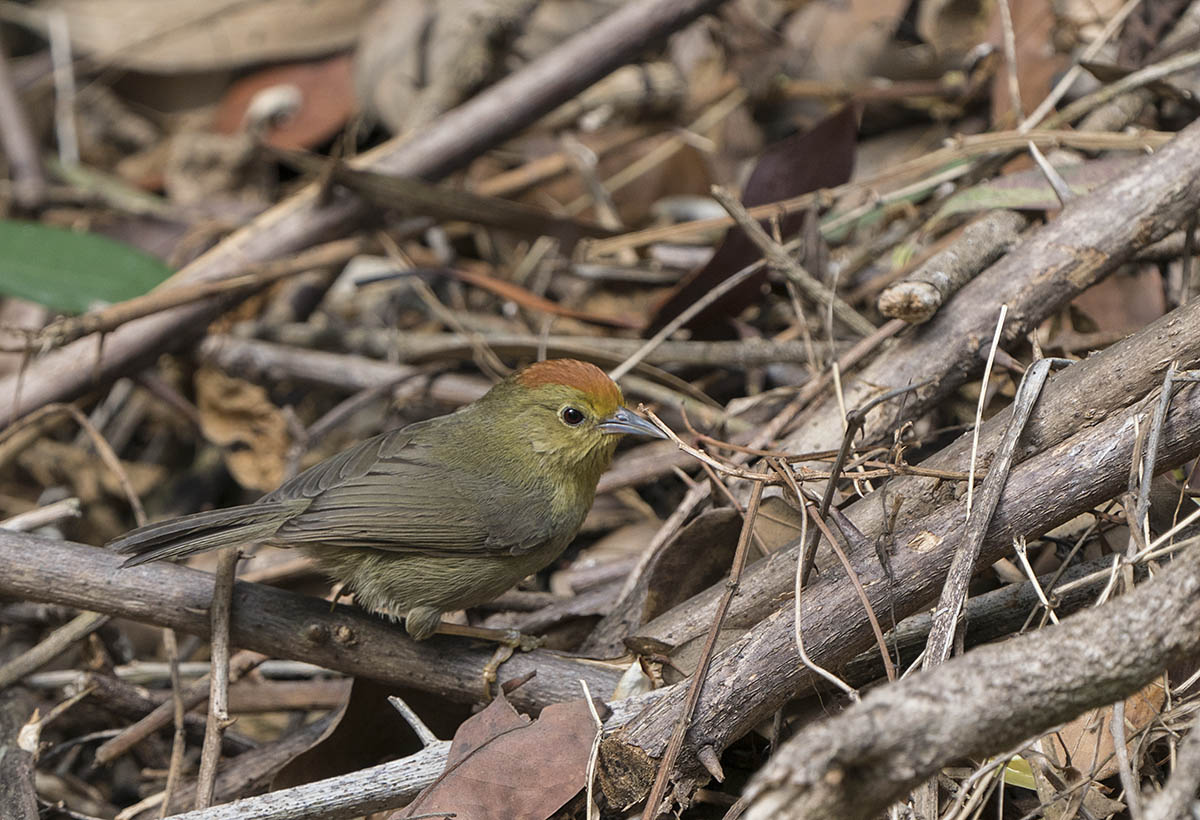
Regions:
[[455, 734], [442, 777], [389, 820], [545, 820], [586, 785], [595, 734], [583, 700], [547, 706], [530, 723], [502, 694]]

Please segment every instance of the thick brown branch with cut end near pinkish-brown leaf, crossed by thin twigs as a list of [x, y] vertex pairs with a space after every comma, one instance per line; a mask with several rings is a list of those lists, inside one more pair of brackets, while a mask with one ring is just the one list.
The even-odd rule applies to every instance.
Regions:
[[[1043, 533], [1121, 492], [1133, 457], [1133, 413], [1115, 415], [1015, 467], [982, 546], [980, 564], [1002, 557], [1013, 538]], [[1200, 390], [1195, 385], [1176, 394], [1163, 436], [1160, 469], [1200, 451]], [[889, 556], [890, 574], [880, 565], [870, 539], [856, 549], [854, 569], [872, 609], [902, 618], [928, 606], [964, 538], [965, 519], [964, 504], [953, 501], [900, 526]], [[836, 567], [812, 585], [802, 615], [805, 648], [827, 669], [839, 668], [872, 641], [862, 601]], [[679, 791], [689, 794], [702, 777], [696, 749], [726, 748], [811, 682], [797, 656], [788, 603], [713, 660], [680, 759]], [[619, 736], [606, 740], [602, 782], [612, 802], [624, 804], [646, 794], [680, 705], [682, 693], [672, 690]]]

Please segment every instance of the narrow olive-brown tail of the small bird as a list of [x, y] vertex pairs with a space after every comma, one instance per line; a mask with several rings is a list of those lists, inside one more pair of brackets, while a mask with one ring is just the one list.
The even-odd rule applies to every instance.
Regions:
[[132, 556], [122, 567], [137, 567], [222, 546], [252, 544], [274, 535], [310, 503], [308, 498], [290, 498], [196, 513], [139, 527], [109, 541], [108, 547]]

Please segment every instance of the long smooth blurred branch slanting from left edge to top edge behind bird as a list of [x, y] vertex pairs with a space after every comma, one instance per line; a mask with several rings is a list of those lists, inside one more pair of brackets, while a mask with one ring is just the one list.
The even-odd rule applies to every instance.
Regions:
[[[614, 68], [649, 42], [686, 25], [721, 0], [652, 0], [628, 4], [596, 25], [442, 115], [413, 137], [392, 139], [355, 167], [397, 176], [438, 179], [481, 151], [517, 133]], [[368, 209], [343, 194], [328, 202], [312, 185], [271, 208], [251, 225], [180, 270], [168, 287], [235, 276], [248, 263], [275, 259], [332, 238]], [[104, 339], [96, 361], [95, 339], [82, 339], [30, 365], [20, 382], [0, 381], [0, 418], [17, 418], [53, 401], [73, 399], [101, 381], [151, 361], [163, 349], [200, 333], [221, 310], [214, 299], [131, 322]], [[6, 403], [8, 403], [6, 402]]]

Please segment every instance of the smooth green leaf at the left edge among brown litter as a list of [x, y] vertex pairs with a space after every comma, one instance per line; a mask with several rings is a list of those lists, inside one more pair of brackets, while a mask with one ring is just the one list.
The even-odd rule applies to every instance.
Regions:
[[0, 295], [65, 313], [139, 297], [170, 275], [161, 259], [90, 233], [0, 220]]

